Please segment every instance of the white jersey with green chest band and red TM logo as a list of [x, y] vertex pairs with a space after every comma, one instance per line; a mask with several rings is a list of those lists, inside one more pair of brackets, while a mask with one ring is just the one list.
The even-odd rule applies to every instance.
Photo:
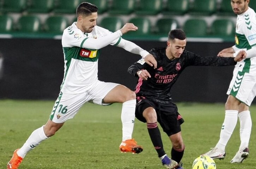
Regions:
[[[66, 28], [62, 35], [65, 66], [61, 92], [76, 94], [93, 87], [98, 79], [100, 48], [118, 44], [120, 36], [119, 32], [112, 33], [99, 26], [95, 26], [91, 33], [84, 34], [77, 28], [76, 22]], [[106, 37], [110, 42], [104, 38], [95, 41], [101, 37]], [[99, 47], [100, 43], [103, 45]]]

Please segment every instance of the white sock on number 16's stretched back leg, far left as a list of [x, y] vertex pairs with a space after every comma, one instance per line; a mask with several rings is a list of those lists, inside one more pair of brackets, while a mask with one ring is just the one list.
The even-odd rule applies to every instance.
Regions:
[[43, 126], [37, 128], [31, 133], [28, 140], [26, 140], [26, 143], [24, 143], [24, 145], [17, 151], [17, 155], [24, 158], [27, 152], [34, 149], [38, 144], [47, 138], [48, 137], [46, 137], [44, 134]]

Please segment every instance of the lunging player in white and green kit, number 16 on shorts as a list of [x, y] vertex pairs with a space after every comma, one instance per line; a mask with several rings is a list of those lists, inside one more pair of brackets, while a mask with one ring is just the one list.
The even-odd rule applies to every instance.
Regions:
[[121, 38], [126, 32], [138, 29], [132, 23], [125, 24], [123, 28], [113, 33], [96, 26], [97, 7], [87, 2], [77, 7], [76, 14], [77, 22], [66, 28], [62, 35], [64, 79], [50, 118], [45, 125], [31, 133], [20, 149], [14, 151], [7, 169], [17, 169], [26, 153], [54, 135], [64, 125], [64, 122], [72, 119], [86, 102], [100, 105], [123, 103], [121, 111], [123, 138], [119, 149], [121, 152], [132, 153], [139, 153], [143, 150], [132, 139], [136, 105], [135, 92], [120, 84], [98, 80], [99, 51], [111, 44], [141, 55], [154, 68], [156, 60], [136, 44]]

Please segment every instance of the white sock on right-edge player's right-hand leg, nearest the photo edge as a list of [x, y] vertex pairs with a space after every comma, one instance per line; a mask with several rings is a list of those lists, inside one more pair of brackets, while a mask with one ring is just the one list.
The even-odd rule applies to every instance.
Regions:
[[251, 135], [251, 115], [250, 111], [242, 111], [238, 113], [238, 117], [240, 120], [240, 140], [241, 144], [239, 150], [243, 150], [245, 147], [249, 146], [249, 140]]

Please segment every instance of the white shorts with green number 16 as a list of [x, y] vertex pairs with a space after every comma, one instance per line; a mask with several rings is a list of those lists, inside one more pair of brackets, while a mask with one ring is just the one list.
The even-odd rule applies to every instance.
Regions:
[[50, 120], [55, 123], [62, 123], [68, 119], [72, 119], [84, 103], [87, 102], [110, 105], [104, 104], [102, 102], [103, 98], [117, 85], [119, 84], [97, 81], [93, 88], [84, 93], [68, 94], [60, 92], [50, 114]]

